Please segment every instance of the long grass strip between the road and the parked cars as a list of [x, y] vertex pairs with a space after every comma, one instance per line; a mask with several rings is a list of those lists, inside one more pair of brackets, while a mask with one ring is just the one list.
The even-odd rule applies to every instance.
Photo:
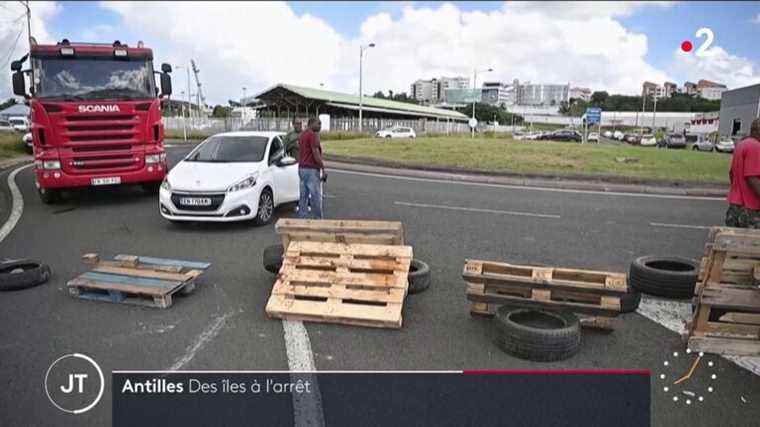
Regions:
[[[623, 176], [691, 183], [728, 183], [731, 156], [628, 145], [438, 137], [415, 140], [324, 141], [328, 155], [390, 160], [409, 165], [484, 171]], [[621, 163], [616, 158], [637, 159]]]

